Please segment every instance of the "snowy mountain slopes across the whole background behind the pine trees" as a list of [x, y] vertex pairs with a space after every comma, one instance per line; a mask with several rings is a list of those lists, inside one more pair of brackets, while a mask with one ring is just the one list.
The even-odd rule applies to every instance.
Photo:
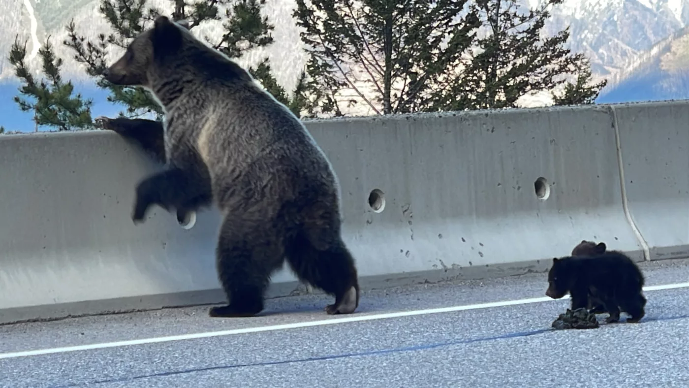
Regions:
[[[536, 6], [544, 0], [521, 1], [524, 5]], [[170, 12], [174, 1], [150, 0], [150, 4]], [[14, 78], [7, 57], [18, 34], [22, 41], [28, 39], [32, 68], [39, 68], [36, 53], [50, 35], [56, 54], [65, 61], [65, 78], [88, 81], [62, 41], [66, 38], [65, 25], [72, 18], [77, 30], [86, 37], [93, 39], [100, 32], [107, 32], [109, 28], [98, 7], [99, 0], [0, 0], [0, 8], [4, 10], [0, 14], [0, 51], [5, 53], [0, 61], [0, 80]], [[278, 81], [290, 89], [306, 60], [300, 50], [298, 28], [291, 18], [293, 8], [294, 0], [267, 0], [265, 13], [276, 25], [273, 33], [276, 43], [240, 59], [242, 65], [249, 65], [267, 53]], [[552, 13], [546, 33], [552, 34], [570, 25], [570, 48], [590, 58], [596, 76], [615, 79], [618, 85], [622, 81], [619, 74], [631, 74], [628, 69], [646, 63], [649, 50], [654, 47], [658, 50], [659, 46], [655, 45], [664, 39], [664, 44], [669, 45], [679, 36], [677, 33], [689, 25], [689, 0], [566, 0]], [[217, 36], [220, 28], [220, 23], [209, 22], [198, 28], [198, 32], [212, 37]], [[121, 52], [112, 52], [112, 59], [119, 54]]]

